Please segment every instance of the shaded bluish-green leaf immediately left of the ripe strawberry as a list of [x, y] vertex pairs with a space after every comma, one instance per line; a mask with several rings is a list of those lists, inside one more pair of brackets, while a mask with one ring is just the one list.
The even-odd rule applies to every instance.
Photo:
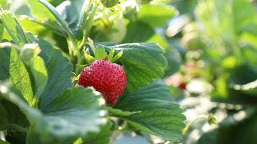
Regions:
[[48, 72], [48, 82], [40, 98], [41, 108], [44, 108], [57, 95], [72, 86], [71, 78], [74, 74], [72, 64], [60, 50], [54, 49], [50, 43], [39, 37], [35, 37], [34, 42], [41, 48], [39, 56], [44, 60]]

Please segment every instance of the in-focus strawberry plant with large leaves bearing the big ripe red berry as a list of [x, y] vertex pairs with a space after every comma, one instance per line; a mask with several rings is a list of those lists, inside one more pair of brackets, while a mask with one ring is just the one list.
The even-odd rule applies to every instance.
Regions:
[[0, 3], [0, 143], [112, 143], [125, 131], [181, 140], [186, 118], [161, 79], [166, 43], [149, 37], [173, 7], [26, 2]]

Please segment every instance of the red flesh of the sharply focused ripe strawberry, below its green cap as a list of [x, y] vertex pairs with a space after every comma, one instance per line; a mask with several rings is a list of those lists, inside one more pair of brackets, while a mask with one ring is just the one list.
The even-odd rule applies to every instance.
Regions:
[[126, 86], [126, 74], [120, 65], [98, 59], [82, 71], [78, 84], [94, 87], [107, 103], [115, 105]]

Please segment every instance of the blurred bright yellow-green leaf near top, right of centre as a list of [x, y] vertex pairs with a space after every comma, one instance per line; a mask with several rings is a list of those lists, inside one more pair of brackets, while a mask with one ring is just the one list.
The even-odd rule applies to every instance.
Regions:
[[178, 12], [171, 6], [142, 5], [138, 12], [138, 20], [152, 28], [165, 26]]

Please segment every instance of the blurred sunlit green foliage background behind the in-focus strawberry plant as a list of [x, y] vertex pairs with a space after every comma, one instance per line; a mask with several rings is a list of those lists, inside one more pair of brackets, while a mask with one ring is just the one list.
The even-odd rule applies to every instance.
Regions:
[[[63, 1], [48, 2], [58, 6]], [[13, 3], [11, 10], [17, 15], [36, 13], [27, 1]], [[217, 124], [212, 125], [206, 120], [194, 122], [181, 143], [256, 143], [256, 1], [154, 0], [150, 4], [143, 5], [139, 12], [127, 8], [125, 18], [117, 12], [111, 14], [114, 19], [104, 15], [93, 24], [90, 38], [118, 44], [157, 42], [165, 49], [168, 67], [162, 79], [169, 85], [169, 98], [185, 111], [185, 122], [210, 113], [217, 118]], [[43, 20], [41, 14], [36, 14], [38, 20]], [[69, 14], [79, 13], [75, 10]], [[66, 18], [69, 14], [63, 13]], [[19, 20], [25, 31], [48, 40], [64, 55], [68, 52], [66, 39], [60, 36], [62, 30], [49, 31], [34, 23], [30, 27], [32, 22], [27, 17], [19, 16]], [[72, 28], [72, 23], [69, 26]], [[179, 89], [180, 84], [186, 89]], [[136, 135], [137, 143], [142, 143], [140, 138], [145, 133], [126, 131], [124, 135], [116, 143], [132, 140], [126, 139], [128, 135]], [[152, 143], [165, 142], [152, 135], [145, 137]]]

